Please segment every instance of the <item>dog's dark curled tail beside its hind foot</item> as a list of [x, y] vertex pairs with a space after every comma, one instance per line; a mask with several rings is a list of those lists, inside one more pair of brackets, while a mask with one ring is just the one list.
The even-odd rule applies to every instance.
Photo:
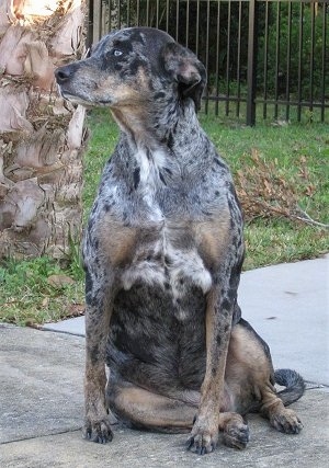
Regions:
[[274, 379], [275, 384], [285, 387], [276, 393], [285, 407], [299, 400], [305, 391], [304, 378], [296, 370], [277, 369], [274, 373]]

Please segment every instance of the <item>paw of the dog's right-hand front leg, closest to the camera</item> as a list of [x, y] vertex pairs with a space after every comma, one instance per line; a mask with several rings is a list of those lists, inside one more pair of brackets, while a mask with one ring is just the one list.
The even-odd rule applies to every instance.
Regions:
[[213, 452], [218, 441], [218, 424], [202, 424], [196, 419], [190, 437], [188, 438], [188, 449], [197, 454], [204, 455]]

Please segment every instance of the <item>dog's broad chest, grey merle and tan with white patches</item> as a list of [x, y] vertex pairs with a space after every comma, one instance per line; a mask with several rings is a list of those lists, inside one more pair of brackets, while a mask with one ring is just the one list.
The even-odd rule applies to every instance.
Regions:
[[113, 170], [101, 191], [100, 248], [121, 289], [131, 296], [135, 286], [155, 286], [183, 319], [191, 292], [205, 295], [212, 287], [228, 219], [217, 216], [218, 201], [211, 199], [207, 181], [201, 187], [200, 173], [191, 182], [185, 167], [162, 153], [140, 152], [135, 160], [133, 168]]

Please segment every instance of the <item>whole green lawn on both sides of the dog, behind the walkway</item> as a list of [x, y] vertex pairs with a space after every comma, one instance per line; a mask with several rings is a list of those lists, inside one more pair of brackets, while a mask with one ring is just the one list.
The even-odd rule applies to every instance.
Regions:
[[[200, 118], [229, 163], [238, 186], [242, 179], [247, 189], [259, 192], [257, 196], [265, 190], [277, 191], [279, 202], [291, 206], [294, 198], [311, 219], [329, 224], [328, 125], [264, 123], [250, 128], [219, 117]], [[88, 126], [91, 138], [84, 156], [84, 220], [117, 138], [110, 114], [89, 114]], [[247, 216], [245, 232], [245, 270], [311, 259], [329, 250], [328, 229], [275, 212]], [[47, 258], [0, 264], [0, 321], [34, 326], [83, 313], [78, 251], [79, 247], [72, 246], [71, 262], [65, 267]]]

